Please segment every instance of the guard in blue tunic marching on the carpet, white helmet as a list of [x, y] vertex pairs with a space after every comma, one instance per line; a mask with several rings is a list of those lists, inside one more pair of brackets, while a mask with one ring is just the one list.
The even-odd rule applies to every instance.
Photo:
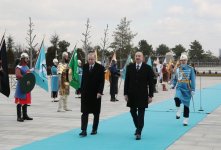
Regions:
[[176, 119], [180, 119], [181, 108], [180, 104], [184, 105], [183, 125], [188, 125], [189, 120], [189, 105], [192, 96], [195, 93], [195, 73], [194, 69], [187, 65], [187, 56], [180, 56], [180, 66], [175, 71], [171, 88], [176, 87], [175, 104], [177, 107]]

